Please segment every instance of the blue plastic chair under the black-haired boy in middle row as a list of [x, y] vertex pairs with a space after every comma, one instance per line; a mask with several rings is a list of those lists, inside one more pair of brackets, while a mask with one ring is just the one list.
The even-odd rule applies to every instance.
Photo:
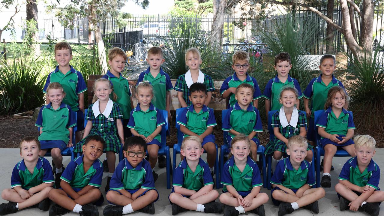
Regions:
[[[173, 145], [173, 161], [172, 161], [172, 169], [175, 169], [176, 168], [176, 155], [177, 154], [180, 154], [180, 149], [181, 149], [181, 143], [183, 141], [183, 136], [184, 136], [184, 133], [182, 133], [180, 131], [180, 125], [177, 124], [177, 121], [179, 120], [180, 118], [180, 113], [182, 113], [182, 111], [184, 109], [187, 109], [186, 107], [183, 107], [183, 108], [179, 108], [176, 110], [176, 129], [177, 129], [177, 143]], [[219, 171], [219, 166], [218, 166], [218, 151], [217, 151], [217, 145], [215, 144], [216, 146], [216, 161], [215, 161], [215, 166], [214, 166], [214, 172], [216, 174], [216, 189], [219, 189], [220, 188], [220, 182], [218, 182], [220, 180], [220, 171]], [[204, 150], [204, 153], [207, 153], [205, 150]]]

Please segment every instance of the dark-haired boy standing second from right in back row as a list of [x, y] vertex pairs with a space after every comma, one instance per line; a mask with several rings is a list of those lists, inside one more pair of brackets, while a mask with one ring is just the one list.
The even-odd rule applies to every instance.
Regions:
[[[280, 110], [281, 103], [279, 103], [280, 91], [286, 86], [291, 86], [297, 89], [299, 96], [298, 99], [303, 97], [301, 88], [295, 78], [291, 78], [288, 73], [292, 68], [291, 57], [288, 53], [279, 53], [275, 56], [275, 65], [273, 68], [277, 71], [275, 78], [268, 81], [263, 92], [265, 98], [265, 112], [268, 118], [268, 111]], [[297, 102], [296, 108], [299, 109], [300, 101]]]

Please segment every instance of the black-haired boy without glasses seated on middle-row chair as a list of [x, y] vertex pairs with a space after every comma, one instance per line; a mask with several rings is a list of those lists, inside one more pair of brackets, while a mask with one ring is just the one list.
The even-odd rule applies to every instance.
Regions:
[[[207, 161], [210, 172], [213, 174], [216, 160], [215, 136], [212, 134], [216, 126], [214, 110], [204, 105], [207, 100], [207, 90], [202, 83], [194, 83], [189, 88], [189, 100], [192, 105], [180, 114], [180, 131], [187, 136], [197, 136], [201, 140], [202, 148], [207, 151]], [[181, 155], [181, 159], [182, 155]]]

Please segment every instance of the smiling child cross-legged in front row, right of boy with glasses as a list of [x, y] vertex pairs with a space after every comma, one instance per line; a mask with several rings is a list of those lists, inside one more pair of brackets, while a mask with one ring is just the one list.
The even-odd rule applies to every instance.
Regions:
[[205, 213], [222, 213], [222, 205], [214, 202], [218, 192], [213, 189], [213, 179], [207, 163], [200, 158], [204, 150], [197, 136], [184, 138], [180, 153], [185, 158], [174, 170], [172, 192], [169, 202], [172, 215], [194, 210]]

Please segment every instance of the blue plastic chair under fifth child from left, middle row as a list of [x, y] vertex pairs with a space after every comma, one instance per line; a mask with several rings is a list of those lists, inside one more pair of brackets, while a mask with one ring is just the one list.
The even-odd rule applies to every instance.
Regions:
[[[225, 117], [229, 116], [230, 113], [228, 113], [229, 109], [228, 110], [223, 110], [222, 111], [222, 124], [223, 124], [223, 121], [225, 119]], [[220, 180], [221, 180], [221, 177], [223, 176], [223, 167], [224, 167], [224, 155], [228, 154], [228, 149], [230, 148], [229, 147], [229, 143], [227, 141], [227, 139], [225, 138], [226, 136], [228, 135], [228, 131], [223, 131], [223, 137], [224, 137], [224, 143], [222, 146], [220, 146]], [[266, 183], [267, 183], [267, 177], [266, 177], [266, 160], [265, 160], [265, 155], [264, 155], [264, 151], [265, 151], [265, 147], [262, 146], [262, 145], [259, 145], [258, 148], [257, 148], [257, 154], [260, 155], [259, 156], [259, 169], [260, 169], [260, 164], [262, 166], [262, 174], [263, 174], [263, 187], [266, 188]], [[220, 188], [222, 188], [223, 185], [220, 184]]]

